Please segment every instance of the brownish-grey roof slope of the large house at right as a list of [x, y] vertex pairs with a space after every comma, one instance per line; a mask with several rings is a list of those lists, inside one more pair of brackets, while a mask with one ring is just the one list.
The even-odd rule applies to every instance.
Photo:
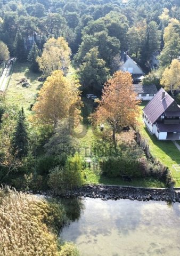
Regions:
[[162, 92], [165, 92], [165, 90], [161, 88], [143, 109], [144, 114], [152, 124], [157, 121], [171, 103], [175, 101], [167, 92], [165, 92], [165, 98], [162, 100]]

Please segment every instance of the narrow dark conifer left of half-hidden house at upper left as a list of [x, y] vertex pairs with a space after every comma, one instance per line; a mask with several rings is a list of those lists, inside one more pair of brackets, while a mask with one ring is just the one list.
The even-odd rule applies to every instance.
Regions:
[[26, 61], [27, 59], [27, 51], [25, 49], [24, 39], [20, 31], [18, 31], [17, 35], [15, 36], [14, 54], [18, 58], [18, 60], [21, 62]]

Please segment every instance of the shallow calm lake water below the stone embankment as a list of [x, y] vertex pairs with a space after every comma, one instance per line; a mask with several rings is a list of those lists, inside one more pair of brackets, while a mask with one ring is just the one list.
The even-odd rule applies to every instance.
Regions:
[[82, 256], [180, 256], [180, 204], [81, 199], [61, 237]]

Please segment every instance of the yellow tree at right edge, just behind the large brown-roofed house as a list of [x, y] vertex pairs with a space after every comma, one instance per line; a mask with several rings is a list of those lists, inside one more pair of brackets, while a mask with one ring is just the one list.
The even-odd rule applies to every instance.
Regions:
[[165, 87], [166, 91], [171, 91], [174, 95], [175, 90], [179, 90], [180, 87], [180, 62], [174, 59], [171, 62], [170, 67], [166, 68], [162, 74], [160, 81], [161, 85]]

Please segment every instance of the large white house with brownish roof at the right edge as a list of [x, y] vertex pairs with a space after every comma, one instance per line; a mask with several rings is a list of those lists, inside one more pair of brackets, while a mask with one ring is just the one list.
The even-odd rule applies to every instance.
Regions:
[[143, 119], [158, 140], [180, 140], [180, 108], [162, 88], [143, 109]]

